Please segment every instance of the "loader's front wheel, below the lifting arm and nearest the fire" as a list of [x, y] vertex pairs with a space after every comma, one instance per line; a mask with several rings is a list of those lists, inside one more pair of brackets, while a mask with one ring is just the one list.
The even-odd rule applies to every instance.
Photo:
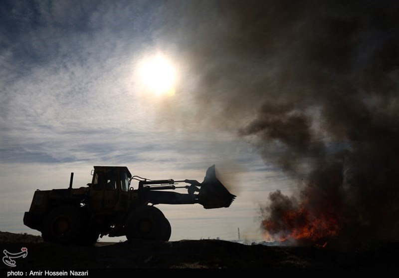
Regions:
[[128, 240], [168, 241], [171, 226], [164, 214], [154, 206], [145, 206], [132, 213], [127, 221], [126, 238]]

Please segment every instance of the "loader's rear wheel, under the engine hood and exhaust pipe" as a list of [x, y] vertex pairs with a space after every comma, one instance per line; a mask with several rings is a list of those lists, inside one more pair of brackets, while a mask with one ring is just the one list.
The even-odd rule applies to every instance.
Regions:
[[51, 210], [44, 222], [44, 241], [58, 244], [79, 244], [84, 241], [85, 214], [77, 207], [62, 206]]

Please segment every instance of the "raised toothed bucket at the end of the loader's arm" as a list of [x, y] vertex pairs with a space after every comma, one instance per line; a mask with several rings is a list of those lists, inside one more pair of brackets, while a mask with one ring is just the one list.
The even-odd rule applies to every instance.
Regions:
[[201, 183], [198, 202], [205, 209], [228, 208], [235, 197], [216, 178], [215, 166], [209, 167]]

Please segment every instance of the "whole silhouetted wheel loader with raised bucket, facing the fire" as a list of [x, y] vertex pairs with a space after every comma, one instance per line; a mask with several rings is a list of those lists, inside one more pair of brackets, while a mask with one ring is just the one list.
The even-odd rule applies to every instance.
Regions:
[[[171, 225], [158, 204], [200, 204], [227, 208], [235, 195], [217, 179], [215, 165], [197, 180], [150, 180], [132, 176], [125, 166], [94, 166], [91, 183], [65, 189], [36, 190], [23, 223], [46, 242], [91, 245], [101, 236], [169, 241]], [[136, 188], [132, 181], [138, 182]], [[183, 185], [180, 185], [183, 184]], [[187, 193], [177, 191], [187, 189]]]

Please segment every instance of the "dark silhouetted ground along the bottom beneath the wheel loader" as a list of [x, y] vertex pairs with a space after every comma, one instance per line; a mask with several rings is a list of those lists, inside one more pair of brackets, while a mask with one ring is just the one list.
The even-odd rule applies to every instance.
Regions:
[[[399, 244], [340, 251], [322, 247], [242, 245], [221, 240], [133, 241], [62, 246], [41, 237], [0, 232], [1, 255], [21, 252], [16, 267], [3, 269], [393, 269]], [[4, 253], [5, 254], [5, 253]]]

